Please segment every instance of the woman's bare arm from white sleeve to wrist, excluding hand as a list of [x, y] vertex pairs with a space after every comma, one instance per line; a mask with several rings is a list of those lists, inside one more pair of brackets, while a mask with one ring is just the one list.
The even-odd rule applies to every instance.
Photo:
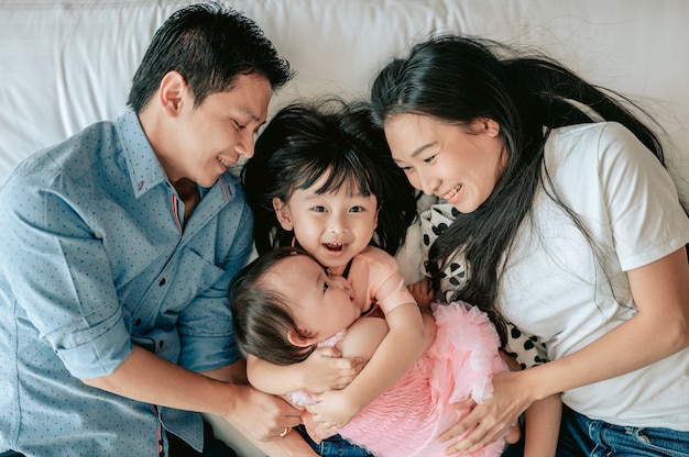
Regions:
[[689, 267], [685, 248], [627, 276], [638, 309], [636, 315], [580, 350], [526, 370], [531, 386], [538, 389], [537, 398], [625, 375], [689, 345]]

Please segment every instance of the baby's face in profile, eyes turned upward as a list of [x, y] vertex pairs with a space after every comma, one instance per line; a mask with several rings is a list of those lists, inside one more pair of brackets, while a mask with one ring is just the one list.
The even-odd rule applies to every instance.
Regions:
[[281, 260], [266, 278], [289, 301], [299, 328], [329, 338], [350, 326], [361, 314], [344, 278], [328, 275], [313, 258], [294, 255]]

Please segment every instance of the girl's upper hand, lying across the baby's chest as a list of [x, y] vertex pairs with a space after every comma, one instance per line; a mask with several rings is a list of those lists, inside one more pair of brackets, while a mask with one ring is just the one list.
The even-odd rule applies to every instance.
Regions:
[[344, 358], [333, 347], [320, 347], [302, 361], [304, 390], [324, 392], [344, 389], [364, 367], [361, 357]]

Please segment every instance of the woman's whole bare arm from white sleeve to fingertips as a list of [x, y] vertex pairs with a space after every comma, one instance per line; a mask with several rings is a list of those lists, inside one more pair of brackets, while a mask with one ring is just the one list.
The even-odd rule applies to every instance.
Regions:
[[493, 397], [439, 437], [447, 442], [475, 426], [448, 452], [472, 453], [484, 447], [536, 400], [631, 372], [689, 346], [686, 248], [627, 275], [638, 309], [634, 317], [567, 357], [495, 376]]

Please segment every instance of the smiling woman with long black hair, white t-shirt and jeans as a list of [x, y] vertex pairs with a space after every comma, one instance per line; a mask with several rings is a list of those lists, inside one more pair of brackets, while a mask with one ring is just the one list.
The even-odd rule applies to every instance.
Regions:
[[562, 392], [558, 455], [687, 455], [689, 219], [635, 107], [462, 36], [391, 62], [372, 102], [409, 182], [457, 210], [429, 253], [436, 287], [462, 259], [453, 299], [503, 341], [507, 322], [536, 335], [551, 360], [495, 376], [493, 398], [440, 435], [475, 426], [448, 452], [481, 448]]

